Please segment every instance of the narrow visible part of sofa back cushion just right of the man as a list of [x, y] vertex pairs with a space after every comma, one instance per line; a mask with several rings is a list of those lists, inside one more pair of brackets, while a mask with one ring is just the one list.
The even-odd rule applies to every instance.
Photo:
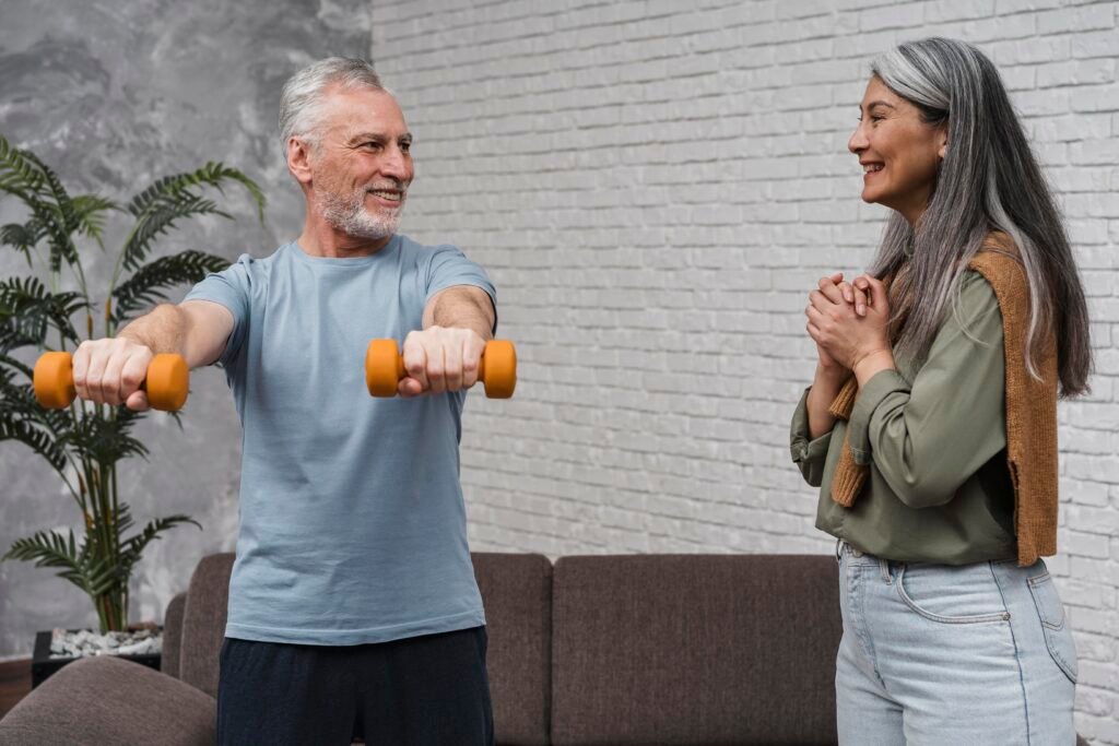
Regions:
[[546, 746], [552, 699], [552, 563], [543, 555], [472, 555], [486, 606], [493, 735]]

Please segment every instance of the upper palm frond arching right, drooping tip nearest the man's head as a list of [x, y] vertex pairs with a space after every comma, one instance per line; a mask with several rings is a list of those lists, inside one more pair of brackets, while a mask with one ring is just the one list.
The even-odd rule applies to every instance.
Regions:
[[255, 181], [237, 169], [223, 163], [209, 162], [197, 171], [164, 177], [133, 197], [129, 204], [128, 209], [135, 216], [137, 221], [124, 244], [123, 263], [125, 268], [138, 268], [150, 253], [153, 239], [172, 228], [178, 220], [185, 217], [219, 215], [233, 219], [228, 213], [218, 209], [213, 200], [205, 199], [201, 193], [196, 191], [204, 187], [213, 187], [222, 191], [223, 183], [227, 181], [236, 181], [248, 190], [263, 223], [264, 192], [261, 191]]

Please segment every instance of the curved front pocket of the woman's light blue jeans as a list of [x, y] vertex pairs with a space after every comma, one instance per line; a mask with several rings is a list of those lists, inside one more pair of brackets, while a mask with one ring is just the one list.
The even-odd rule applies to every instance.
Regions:
[[986, 563], [960, 567], [902, 566], [895, 585], [905, 605], [932, 622], [984, 624], [1010, 618]]

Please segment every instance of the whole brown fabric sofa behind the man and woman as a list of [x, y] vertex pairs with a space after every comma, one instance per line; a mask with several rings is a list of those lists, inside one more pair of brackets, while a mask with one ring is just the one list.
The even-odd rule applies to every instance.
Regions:
[[[476, 554], [497, 743], [836, 743], [834, 557]], [[72, 663], [0, 720], [0, 743], [214, 743], [233, 555], [168, 607], [163, 671]]]

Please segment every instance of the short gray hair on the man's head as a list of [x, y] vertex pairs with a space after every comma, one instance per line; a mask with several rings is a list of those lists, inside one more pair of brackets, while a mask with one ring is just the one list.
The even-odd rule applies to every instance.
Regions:
[[352, 57], [327, 57], [292, 75], [280, 96], [280, 142], [285, 159], [288, 140], [293, 136], [318, 147], [323, 92], [330, 86], [386, 89], [373, 63]]

